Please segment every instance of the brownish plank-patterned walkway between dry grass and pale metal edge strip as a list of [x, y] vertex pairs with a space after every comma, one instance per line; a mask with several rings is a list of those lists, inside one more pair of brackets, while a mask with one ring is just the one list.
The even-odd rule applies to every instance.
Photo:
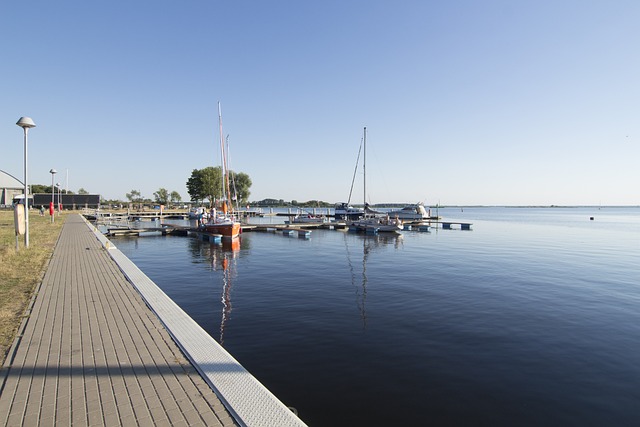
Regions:
[[236, 425], [79, 215], [19, 334], [0, 425]]

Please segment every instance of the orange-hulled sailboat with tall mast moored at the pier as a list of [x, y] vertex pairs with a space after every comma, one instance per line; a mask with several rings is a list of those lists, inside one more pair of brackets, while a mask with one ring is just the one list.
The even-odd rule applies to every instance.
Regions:
[[204, 224], [207, 233], [221, 234], [223, 239], [233, 239], [242, 232], [240, 222], [233, 215], [233, 205], [231, 204], [231, 187], [229, 185], [228, 159], [225, 155], [224, 137], [222, 132], [222, 109], [218, 102], [218, 124], [220, 128], [220, 153], [222, 166], [222, 197], [219, 209], [211, 209], [209, 221]]

